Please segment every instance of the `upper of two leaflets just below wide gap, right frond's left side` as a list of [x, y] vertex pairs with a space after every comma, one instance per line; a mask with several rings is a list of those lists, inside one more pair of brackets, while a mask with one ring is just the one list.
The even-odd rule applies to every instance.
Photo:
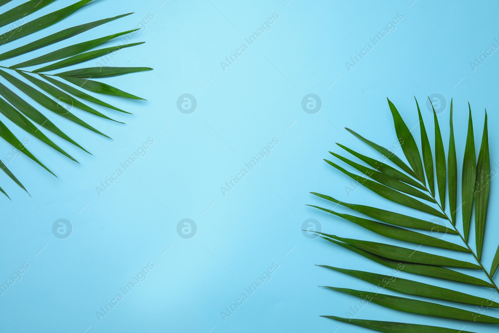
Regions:
[[439, 225], [437, 223], [431, 223], [428, 221], [417, 219], [417, 218], [412, 217], [412, 216], [407, 216], [407, 215], [403, 215], [400, 213], [390, 212], [390, 211], [387, 211], [384, 209], [379, 209], [379, 208], [370, 207], [370, 206], [364, 206], [364, 205], [358, 205], [358, 204], [349, 204], [346, 202], [336, 200], [333, 197], [330, 197], [328, 195], [324, 195], [324, 194], [320, 194], [320, 193], [310, 192], [310, 194], [316, 195], [320, 198], [323, 198], [323, 199], [332, 201], [334, 203], [340, 204], [342, 206], [348, 207], [348, 208], [353, 209], [354, 211], [357, 211], [361, 214], [372, 217], [373, 219], [376, 219], [376, 220], [379, 220], [379, 221], [382, 221], [385, 223], [394, 224], [396, 226], [414, 228], [414, 229], [422, 229], [422, 230], [430, 230], [433, 232], [444, 232], [447, 234], [454, 234], [454, 235], [458, 234], [455, 230], [447, 228], [446, 226], [442, 226], [442, 225]]

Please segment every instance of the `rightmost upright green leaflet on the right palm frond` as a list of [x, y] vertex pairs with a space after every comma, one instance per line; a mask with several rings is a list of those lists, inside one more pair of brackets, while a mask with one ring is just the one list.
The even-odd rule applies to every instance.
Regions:
[[489, 205], [491, 188], [491, 161], [489, 157], [489, 131], [487, 128], [487, 110], [485, 110], [484, 134], [480, 153], [478, 154], [477, 184], [475, 186], [475, 231], [478, 260], [482, 258], [484, 244], [485, 221]]

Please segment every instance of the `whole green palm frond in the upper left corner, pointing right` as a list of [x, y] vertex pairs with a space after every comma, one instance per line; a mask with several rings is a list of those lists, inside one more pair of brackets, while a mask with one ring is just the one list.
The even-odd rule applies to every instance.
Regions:
[[[104, 107], [107, 110], [113, 109], [123, 113], [126, 112], [117, 108], [107, 102], [103, 101], [101, 97], [88, 94], [80, 89], [86, 89], [103, 95], [116, 95], [127, 98], [142, 99], [130, 93], [126, 93], [117, 87], [108, 85], [103, 82], [88, 80], [87, 78], [105, 78], [116, 75], [124, 75], [135, 73], [139, 71], [151, 70], [149, 67], [84, 67], [79, 69], [71, 69], [56, 74], [60, 79], [69, 81], [70, 84], [59, 81], [59, 77], [47, 73], [48, 71], [57, 70], [67, 66], [74, 66], [80, 63], [87, 62], [92, 59], [97, 59], [106, 56], [109, 53], [116, 52], [125, 48], [133, 47], [142, 44], [142, 41], [127, 44], [117, 44], [108, 46], [101, 49], [93, 49], [105, 42], [116, 39], [120, 36], [126, 36], [130, 33], [136, 34], [138, 29], [131, 29], [119, 33], [105, 35], [93, 40], [82, 40], [70, 46], [60, 47], [57, 44], [65, 39], [77, 36], [85, 31], [96, 28], [102, 24], [109, 23], [113, 20], [123, 18], [132, 13], [126, 13], [109, 18], [101, 18], [99, 20], [83, 23], [69, 28], [60, 29], [51, 34], [43, 34], [45, 28], [50, 26], [58, 26], [59, 22], [64, 18], [76, 13], [80, 8], [85, 6], [92, 0], [27, 0], [11, 9], [0, 9], [0, 26], [5, 26], [14, 21], [19, 20], [22, 25], [10, 29], [5, 33], [0, 34], [0, 45], [7, 44], [13, 40], [24, 40], [26, 36], [37, 32], [38, 39], [30, 42], [21, 43], [13, 49], [2, 49], [0, 60], [15, 59], [11, 64], [0, 66], [0, 114], [1, 117], [8, 119], [8, 122], [0, 119], [0, 137], [8, 144], [14, 146], [20, 152], [24, 153], [31, 160], [39, 164], [41, 167], [53, 174], [44, 163], [41, 162], [42, 158], [38, 159], [35, 154], [31, 153], [21, 141], [15, 137], [12, 130], [7, 127], [13, 124], [22, 130], [26, 131], [36, 139], [50, 146], [52, 149], [58, 151], [64, 156], [76, 162], [76, 159], [71, 156], [69, 151], [62, 149], [59, 144], [49, 139], [43, 130], [48, 130], [56, 134], [59, 138], [72, 143], [74, 146], [88, 152], [81, 145], [71, 139], [64, 131], [50, 121], [45, 115], [48, 113], [55, 113], [72, 122], [80, 125], [83, 128], [89, 129], [95, 133], [101, 134], [100, 130], [96, 129], [86, 121], [83, 121], [78, 116], [70, 112], [72, 107], [78, 108], [85, 112], [91, 113], [100, 118], [117, 121], [104, 114], [98, 108]], [[0, 0], [0, 6], [10, 2], [9, 0]], [[68, 3], [69, 2], [69, 3]], [[53, 10], [47, 14], [36, 17], [36, 13], [48, 4], [61, 5], [59, 9]], [[32, 19], [26, 19], [27, 17]], [[22, 19], [22, 21], [21, 21]], [[129, 39], [129, 38], [127, 38]], [[45, 47], [53, 45], [52, 50], [45, 50]], [[19, 56], [28, 52], [41, 52], [31, 57], [30, 60], [19, 62]], [[56, 62], [54, 62], [56, 61]], [[30, 66], [45, 64], [44, 66], [34, 70], [20, 70], [19, 68], [26, 68]], [[73, 86], [74, 84], [75, 86]], [[21, 97], [21, 96], [27, 97]], [[89, 105], [91, 102], [95, 105]], [[63, 104], [68, 105], [66, 108]], [[43, 156], [41, 156], [43, 157]], [[13, 180], [18, 186], [26, 191], [22, 183], [13, 175], [13, 173], [0, 161], [0, 168], [6, 175]], [[7, 193], [0, 187], [0, 192]], [[27, 192], [27, 191], [26, 191]]]

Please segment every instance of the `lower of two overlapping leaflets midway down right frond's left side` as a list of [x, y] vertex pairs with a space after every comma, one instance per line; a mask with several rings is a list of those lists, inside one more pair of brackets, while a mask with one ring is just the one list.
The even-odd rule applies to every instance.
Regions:
[[373, 253], [364, 251], [362, 249], [356, 248], [354, 246], [351, 246], [350, 244], [338, 242], [338, 241], [335, 241], [333, 239], [326, 238], [326, 237], [322, 237], [322, 238], [325, 239], [326, 241], [329, 241], [331, 243], [334, 243], [334, 244], [337, 244], [341, 247], [344, 247], [345, 249], [348, 249], [352, 252], [358, 253], [359, 255], [364, 256], [364, 257], [366, 257], [366, 258], [368, 258], [368, 259], [370, 259], [378, 264], [392, 268], [394, 273], [397, 273], [398, 271], [403, 271], [403, 272], [422, 275], [422, 276], [426, 276], [426, 277], [430, 277], [430, 278], [436, 278], [436, 279], [447, 280], [447, 281], [454, 281], [454, 282], [464, 283], [464, 284], [468, 284], [468, 285], [482, 286], [482, 287], [494, 289], [494, 286], [490, 282], [475, 278], [471, 275], [456, 272], [454, 270], [450, 270], [450, 269], [445, 268], [445, 267], [414, 264], [414, 263], [400, 262], [397, 260], [387, 259], [387, 258], [383, 258], [383, 257], [378, 256], [378, 255], [375, 255]]

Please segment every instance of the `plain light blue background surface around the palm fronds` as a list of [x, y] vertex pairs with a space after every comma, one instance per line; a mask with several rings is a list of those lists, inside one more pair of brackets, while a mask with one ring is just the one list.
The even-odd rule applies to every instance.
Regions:
[[[438, 118], [446, 147], [449, 105], [454, 97], [458, 171], [465, 145], [467, 102], [474, 110], [478, 138], [487, 107], [491, 167], [499, 170], [495, 164], [499, 162], [495, 148], [499, 144], [495, 130], [499, 124], [499, 55], [490, 51], [492, 55], [483, 57], [480, 66], [475, 60], [491, 49], [491, 44], [499, 47], [495, 39], [499, 39], [499, 4], [471, 0], [163, 1], [97, 0], [55, 26], [2, 46], [3, 52], [47, 32], [135, 12], [25, 54], [18, 61], [138, 27], [141, 30], [133, 42], [147, 43], [120, 51], [105, 64], [150, 66], [154, 72], [105, 80], [147, 99], [105, 98], [133, 113], [99, 108], [126, 124], [74, 111], [113, 140], [61, 117], [50, 117], [93, 154], [57, 140], [81, 164], [1, 117], [18, 138], [29, 141], [27, 148], [58, 179], [24, 155], [7, 166], [31, 197], [5, 174], [0, 175], [1, 187], [12, 198], [11, 202], [0, 198], [0, 282], [7, 281], [24, 263], [29, 266], [21, 269], [20, 280], [0, 295], [0, 331], [370, 332], [318, 317], [345, 317], [358, 299], [317, 286], [364, 290], [372, 286], [314, 265], [380, 274], [391, 270], [323, 240], [307, 238], [301, 229], [304, 221], [316, 219], [331, 234], [385, 240], [305, 206], [332, 208], [309, 192], [394, 207], [366, 189], [348, 191], [350, 180], [322, 161], [332, 158], [328, 151], [340, 152], [335, 142], [377, 158], [343, 127], [384, 146], [396, 142], [386, 97], [412, 127], [418, 123], [416, 96], [433, 141], [426, 98], [444, 96], [447, 107]], [[14, 0], [5, 7], [21, 2]], [[67, 2], [54, 1], [31, 16], [59, 9]], [[11, 25], [2, 32], [8, 28]], [[258, 37], [250, 43], [245, 38], [253, 32]], [[370, 38], [379, 32], [383, 37], [375, 44]], [[108, 44], [121, 43], [118, 39]], [[240, 55], [228, 62], [226, 57], [232, 52]], [[364, 52], [363, 57], [356, 52]], [[350, 58], [355, 56], [353, 62]], [[97, 62], [102, 63], [98, 59], [85, 66], [99, 65]], [[0, 63], [11, 64], [12, 59]], [[194, 112], [182, 107], [184, 112], [180, 112], [177, 104], [183, 94], [195, 97]], [[304, 111], [302, 98], [307, 94], [319, 96], [319, 112]], [[189, 100], [181, 99], [180, 104], [183, 102]], [[413, 133], [419, 142], [419, 128]], [[5, 142], [0, 149], [2, 159], [12, 151]], [[402, 156], [400, 149], [395, 152]], [[250, 169], [245, 163], [258, 153], [262, 157]], [[133, 164], [123, 167], [130, 157]], [[107, 177], [115, 180], [111, 183]], [[226, 182], [232, 177], [240, 180], [228, 187]], [[106, 181], [103, 187], [101, 182]], [[487, 265], [497, 248], [497, 237], [492, 235], [499, 232], [494, 218], [499, 213], [495, 183], [483, 256]], [[409, 209], [399, 211], [428, 218]], [[52, 225], [58, 219], [70, 221], [70, 237], [54, 236]], [[183, 219], [194, 221], [195, 225], [190, 224], [191, 236], [197, 229], [193, 238], [184, 238], [189, 236], [184, 234], [189, 233], [189, 225], [182, 222], [178, 227]], [[438, 253], [463, 260], [459, 254]], [[137, 284], [123, 292], [134, 278]], [[258, 284], [258, 278], [261, 285], [251, 294], [247, 289]], [[463, 288], [441, 281], [437, 284]], [[493, 294], [481, 288], [465, 289], [485, 298]], [[239, 307], [232, 302], [239, 302]], [[101, 307], [106, 306], [108, 310], [103, 312]], [[226, 307], [231, 306], [229, 312]], [[355, 318], [494, 332], [490, 325], [395, 313], [375, 304], [358, 312]], [[498, 312], [487, 309], [484, 314], [497, 316]]]

